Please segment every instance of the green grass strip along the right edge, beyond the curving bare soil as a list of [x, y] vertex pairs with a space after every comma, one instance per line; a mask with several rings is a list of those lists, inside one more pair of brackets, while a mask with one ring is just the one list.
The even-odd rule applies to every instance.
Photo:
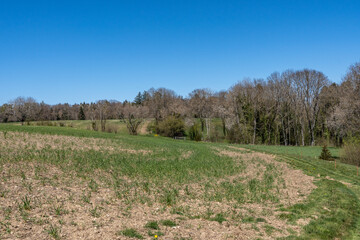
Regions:
[[[282, 217], [289, 221], [304, 215], [320, 214], [318, 219], [313, 219], [305, 227], [304, 239], [360, 239], [360, 177], [357, 176], [355, 166], [337, 161], [335, 168], [335, 162], [319, 160], [321, 147], [243, 147], [276, 154], [279, 161], [285, 161], [319, 179], [318, 188], [312, 192], [307, 202], [282, 209], [287, 212]], [[339, 158], [339, 149], [330, 148], [330, 151], [335, 159]]]

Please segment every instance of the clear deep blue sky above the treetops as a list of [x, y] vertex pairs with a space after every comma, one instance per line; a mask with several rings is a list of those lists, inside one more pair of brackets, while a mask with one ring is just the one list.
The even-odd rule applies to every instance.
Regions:
[[358, 61], [359, 0], [0, 0], [0, 104], [187, 96], [286, 69], [340, 82]]

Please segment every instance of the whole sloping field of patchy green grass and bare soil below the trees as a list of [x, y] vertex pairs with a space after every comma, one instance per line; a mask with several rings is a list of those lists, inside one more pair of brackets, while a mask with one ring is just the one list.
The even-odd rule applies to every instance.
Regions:
[[356, 168], [318, 160], [321, 148], [81, 124], [0, 124], [0, 239], [360, 237]]

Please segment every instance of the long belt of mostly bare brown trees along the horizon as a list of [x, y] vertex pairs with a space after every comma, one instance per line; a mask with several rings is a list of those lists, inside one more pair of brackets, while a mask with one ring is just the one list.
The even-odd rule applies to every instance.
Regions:
[[244, 79], [227, 91], [196, 89], [182, 97], [159, 88], [139, 92], [135, 99], [95, 103], [38, 103], [18, 97], [0, 107], [0, 122], [153, 118], [169, 116], [188, 127], [199, 119], [207, 139], [218, 131], [232, 142], [281, 145], [340, 146], [360, 135], [360, 62], [350, 66], [340, 84], [316, 70], [274, 72], [265, 79]]

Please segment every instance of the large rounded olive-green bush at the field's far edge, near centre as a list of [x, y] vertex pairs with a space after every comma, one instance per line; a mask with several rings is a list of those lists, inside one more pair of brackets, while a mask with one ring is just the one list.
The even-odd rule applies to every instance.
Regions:
[[185, 136], [184, 120], [176, 116], [168, 116], [157, 125], [157, 132], [165, 137]]

